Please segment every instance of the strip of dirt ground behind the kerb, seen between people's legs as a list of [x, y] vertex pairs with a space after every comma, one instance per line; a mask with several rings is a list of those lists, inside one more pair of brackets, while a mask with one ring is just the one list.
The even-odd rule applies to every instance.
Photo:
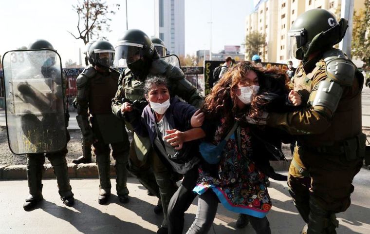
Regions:
[[[364, 128], [363, 132], [370, 137], [370, 128]], [[66, 156], [67, 162], [71, 163], [73, 159], [81, 156], [81, 132], [77, 130], [70, 131], [71, 140], [67, 144], [68, 154]], [[283, 144], [282, 151], [286, 158], [291, 158], [289, 145]], [[113, 158], [111, 157], [111, 160]], [[9, 150], [8, 137], [6, 128], [0, 126], [0, 165], [25, 165], [27, 157], [25, 155], [14, 155]], [[95, 161], [95, 157], [92, 157], [92, 161]], [[46, 162], [49, 161], [46, 158]]]

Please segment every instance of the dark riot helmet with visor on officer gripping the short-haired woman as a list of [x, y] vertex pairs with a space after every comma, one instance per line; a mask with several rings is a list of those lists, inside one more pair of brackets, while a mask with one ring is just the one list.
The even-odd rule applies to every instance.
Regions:
[[126, 31], [118, 40], [115, 49], [114, 66], [127, 66], [134, 73], [146, 69], [152, 59], [159, 58], [147, 34], [138, 29]]

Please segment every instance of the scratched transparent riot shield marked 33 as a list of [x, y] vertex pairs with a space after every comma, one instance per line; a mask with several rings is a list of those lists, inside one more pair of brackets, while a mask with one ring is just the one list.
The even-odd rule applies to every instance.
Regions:
[[6, 52], [6, 126], [14, 154], [51, 153], [67, 144], [60, 57], [53, 50]]

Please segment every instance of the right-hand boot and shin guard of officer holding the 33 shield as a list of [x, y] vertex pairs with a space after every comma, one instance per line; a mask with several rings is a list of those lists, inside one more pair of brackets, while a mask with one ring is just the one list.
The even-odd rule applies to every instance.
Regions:
[[66, 157], [61, 152], [46, 155], [52, 164], [54, 174], [56, 176], [56, 182], [58, 183], [60, 199], [67, 206], [73, 206], [74, 197], [72, 193], [72, 187], [68, 176], [68, 166]]

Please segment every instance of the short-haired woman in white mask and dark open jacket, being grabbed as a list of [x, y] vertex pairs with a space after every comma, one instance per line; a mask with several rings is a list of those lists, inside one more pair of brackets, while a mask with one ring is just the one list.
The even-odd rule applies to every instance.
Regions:
[[197, 196], [192, 190], [202, 160], [199, 143], [191, 140], [203, 136], [199, 127], [203, 124], [204, 114], [179, 98], [170, 98], [163, 77], [149, 77], [144, 93], [149, 104], [143, 113], [124, 103], [128, 107], [125, 117], [138, 135], [150, 138], [153, 149], [168, 170], [184, 176], [179, 189], [173, 191], [171, 200], [163, 204], [166, 208], [168, 206], [165, 215], [168, 215], [169, 233], [182, 233], [184, 213]]

